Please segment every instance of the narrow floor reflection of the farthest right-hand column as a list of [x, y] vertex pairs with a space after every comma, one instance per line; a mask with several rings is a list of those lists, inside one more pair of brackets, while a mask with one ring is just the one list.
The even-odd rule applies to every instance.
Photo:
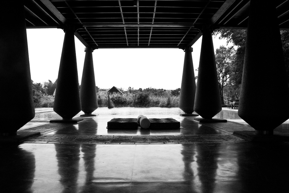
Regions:
[[192, 163], [194, 160], [195, 155], [195, 144], [182, 144], [183, 150], [181, 150], [181, 154], [183, 155], [184, 161], [184, 173], [183, 177], [186, 182], [190, 185], [190, 190], [187, 192], [194, 192], [194, 172], [192, 169]]

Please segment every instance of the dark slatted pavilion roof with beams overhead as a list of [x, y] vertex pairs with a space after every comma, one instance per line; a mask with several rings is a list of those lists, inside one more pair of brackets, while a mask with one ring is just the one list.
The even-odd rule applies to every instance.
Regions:
[[[288, 29], [289, 1], [274, 3], [280, 29]], [[249, 0], [26, 0], [25, 15], [27, 28], [76, 25], [77, 38], [93, 49], [183, 49], [197, 41], [204, 25], [246, 29], [249, 5]]]

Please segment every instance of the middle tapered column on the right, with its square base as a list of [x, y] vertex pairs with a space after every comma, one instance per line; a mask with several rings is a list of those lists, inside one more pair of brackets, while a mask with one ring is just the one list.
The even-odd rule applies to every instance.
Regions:
[[199, 72], [194, 103], [194, 111], [203, 118], [199, 122], [227, 122], [223, 119], [212, 119], [222, 110], [216, 59], [211, 30], [204, 27], [201, 45]]

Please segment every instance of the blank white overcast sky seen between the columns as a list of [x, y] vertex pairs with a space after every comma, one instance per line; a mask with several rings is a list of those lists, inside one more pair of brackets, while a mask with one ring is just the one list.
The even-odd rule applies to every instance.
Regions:
[[[55, 81], [64, 39], [61, 29], [27, 29], [31, 79]], [[192, 46], [194, 69], [199, 66], [201, 39]], [[226, 45], [213, 37], [214, 49]], [[81, 84], [85, 46], [75, 37], [78, 81]], [[177, 89], [181, 87], [184, 51], [181, 49], [96, 49], [92, 53], [95, 84], [108, 89]], [[197, 72], [195, 71], [195, 76]]]

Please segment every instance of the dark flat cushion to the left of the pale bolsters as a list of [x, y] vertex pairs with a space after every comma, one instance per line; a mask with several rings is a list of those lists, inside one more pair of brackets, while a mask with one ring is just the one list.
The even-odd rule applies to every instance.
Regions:
[[113, 118], [108, 122], [108, 129], [137, 129], [137, 118]]

